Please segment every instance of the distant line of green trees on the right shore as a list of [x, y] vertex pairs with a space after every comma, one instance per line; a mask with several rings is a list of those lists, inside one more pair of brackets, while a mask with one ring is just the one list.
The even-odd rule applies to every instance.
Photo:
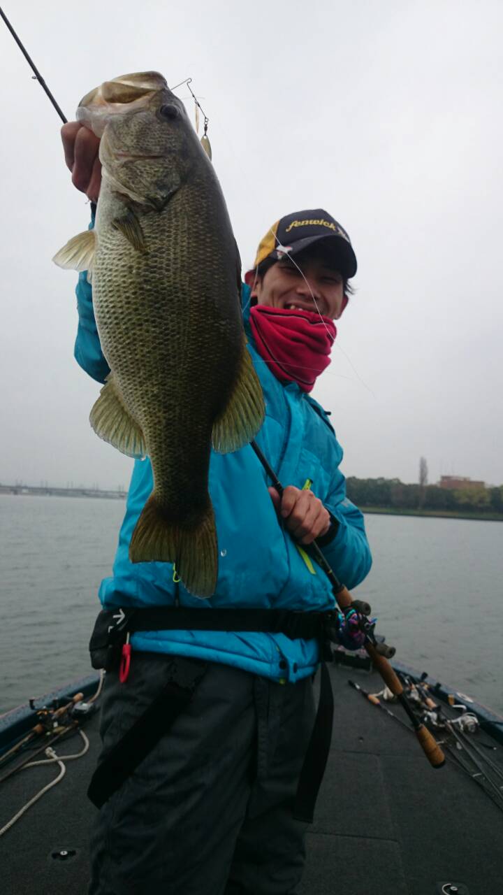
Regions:
[[503, 485], [498, 488], [448, 490], [438, 485], [405, 485], [399, 479], [346, 479], [347, 496], [357, 507], [400, 510], [451, 510], [463, 513], [503, 513]]

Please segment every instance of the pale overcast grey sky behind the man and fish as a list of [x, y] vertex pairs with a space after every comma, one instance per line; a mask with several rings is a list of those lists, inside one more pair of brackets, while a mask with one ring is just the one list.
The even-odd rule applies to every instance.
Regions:
[[[283, 214], [321, 207], [345, 226], [357, 291], [313, 395], [346, 475], [414, 482], [423, 455], [431, 482], [503, 482], [499, 0], [3, 8], [69, 118], [119, 74], [192, 77], [244, 269]], [[0, 482], [127, 485], [132, 461], [90, 430], [99, 387], [72, 358], [75, 276], [51, 262], [89, 205], [3, 23], [0, 68]]]

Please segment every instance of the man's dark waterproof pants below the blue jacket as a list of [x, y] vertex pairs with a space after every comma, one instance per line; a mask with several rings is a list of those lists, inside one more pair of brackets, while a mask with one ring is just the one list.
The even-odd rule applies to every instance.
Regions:
[[[133, 653], [126, 683], [107, 674], [103, 754], [176, 662]], [[292, 808], [314, 714], [311, 678], [281, 685], [209, 664], [191, 703], [101, 808], [90, 895], [292, 895], [307, 827]]]

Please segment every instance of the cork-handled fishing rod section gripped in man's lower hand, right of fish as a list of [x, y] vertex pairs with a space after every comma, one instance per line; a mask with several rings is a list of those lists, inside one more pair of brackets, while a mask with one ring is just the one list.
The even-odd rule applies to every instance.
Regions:
[[[264, 467], [266, 473], [269, 475], [269, 479], [271, 480], [273, 487], [276, 488], [277, 493], [281, 497], [284, 492], [284, 488], [281, 482], [279, 482], [276, 473], [269, 465], [265, 456], [262, 454], [257, 443], [255, 441], [252, 441], [251, 446], [255, 451], [255, 454], [258, 456], [260, 463]], [[337, 606], [339, 607], [345, 618], [347, 618], [349, 613], [354, 614], [354, 610], [356, 610], [359, 619], [359, 628], [365, 635], [363, 645], [369, 656], [371, 657], [374, 668], [379, 671], [379, 674], [384, 680], [386, 686], [389, 687], [393, 695], [397, 697], [397, 699], [403, 706], [405, 712], [409, 717], [409, 720], [413, 725], [415, 735], [422, 746], [422, 751], [426, 755], [428, 761], [431, 763], [431, 766], [433, 768], [442, 767], [446, 760], [445, 755], [440, 749], [439, 744], [436, 743], [435, 739], [431, 736], [430, 730], [428, 730], [424, 726], [424, 724], [422, 724], [422, 722], [418, 720], [417, 715], [413, 712], [413, 709], [405, 695], [404, 687], [401, 685], [399, 679], [396, 677], [395, 671], [391, 668], [391, 665], [388, 662], [388, 658], [391, 658], [391, 656], [395, 654], [395, 650], [393, 648], [386, 647], [385, 644], [378, 644], [376, 640], [376, 637], [374, 635], [374, 625], [368, 618], [368, 615], [371, 611], [370, 606], [368, 605], [368, 603], [362, 603], [362, 601], [353, 600], [351, 593], [347, 590], [345, 584], [341, 584], [316, 541], [312, 541], [312, 543], [309, 544], [308, 547], [305, 549], [311, 553], [311, 556], [316, 560], [316, 562], [320, 565], [320, 567], [327, 575], [330, 584], [332, 584], [332, 591], [336, 599]]]

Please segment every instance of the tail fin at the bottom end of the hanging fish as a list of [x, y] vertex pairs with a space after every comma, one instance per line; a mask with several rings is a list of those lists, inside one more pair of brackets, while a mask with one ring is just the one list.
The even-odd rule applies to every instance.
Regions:
[[141, 511], [129, 546], [132, 562], [173, 562], [186, 589], [210, 597], [217, 586], [217, 528], [213, 507], [191, 528], [167, 520], [155, 494]]

